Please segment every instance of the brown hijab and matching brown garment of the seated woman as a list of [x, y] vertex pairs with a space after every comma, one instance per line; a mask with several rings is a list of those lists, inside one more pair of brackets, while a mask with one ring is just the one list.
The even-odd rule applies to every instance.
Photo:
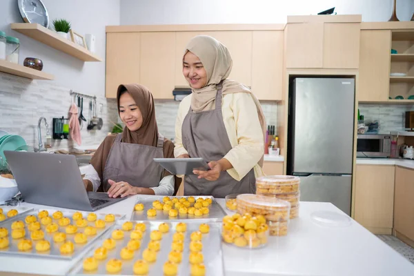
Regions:
[[[135, 103], [142, 114], [142, 126], [138, 130], [130, 131], [126, 126], [122, 131], [122, 143], [128, 144], [140, 144], [146, 146], [157, 146], [158, 141], [158, 126], [157, 119], [155, 119], [155, 105], [154, 99], [152, 98], [151, 92], [145, 87], [141, 86], [138, 83], [132, 84], [121, 84], [118, 87], [117, 91], [117, 105], [118, 105], [118, 114], [119, 114], [119, 98], [121, 97], [122, 92], [128, 92], [134, 99]], [[106, 160], [112, 144], [115, 141], [117, 135], [108, 135], [99, 146], [92, 159], [90, 159], [90, 164], [98, 172], [98, 175], [103, 179], [103, 170], [105, 170]], [[164, 158], [174, 158], [174, 144], [168, 139], [164, 139]], [[170, 172], [164, 170], [163, 176], [171, 175]], [[160, 179], [161, 180], [161, 179]], [[177, 177], [175, 179], [175, 191], [177, 192]]]

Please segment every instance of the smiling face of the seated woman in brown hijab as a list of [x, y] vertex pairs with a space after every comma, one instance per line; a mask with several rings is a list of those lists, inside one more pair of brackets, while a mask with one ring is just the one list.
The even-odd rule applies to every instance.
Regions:
[[128, 92], [119, 97], [119, 117], [130, 131], [139, 130], [142, 126], [142, 114], [134, 98]]

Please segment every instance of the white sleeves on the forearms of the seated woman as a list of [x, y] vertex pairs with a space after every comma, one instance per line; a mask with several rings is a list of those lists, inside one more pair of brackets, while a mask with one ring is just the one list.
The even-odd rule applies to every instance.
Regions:
[[[83, 167], [82, 174], [85, 174], [83, 179], [88, 179], [92, 182], [93, 191], [96, 192], [99, 186], [101, 186], [101, 178], [95, 168], [92, 165]], [[167, 175], [159, 181], [157, 187], [152, 187], [150, 189], [154, 190], [155, 195], [174, 195], [174, 181], [174, 175]]]

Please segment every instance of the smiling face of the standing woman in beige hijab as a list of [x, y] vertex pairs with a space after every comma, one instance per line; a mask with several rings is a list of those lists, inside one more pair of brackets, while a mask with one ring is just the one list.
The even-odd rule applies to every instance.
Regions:
[[207, 84], [207, 72], [200, 59], [188, 51], [183, 59], [183, 75], [191, 88], [203, 88]]

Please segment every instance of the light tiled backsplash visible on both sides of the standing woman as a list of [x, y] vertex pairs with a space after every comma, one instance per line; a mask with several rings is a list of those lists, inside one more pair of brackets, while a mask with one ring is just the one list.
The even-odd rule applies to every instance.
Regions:
[[[155, 114], [159, 131], [168, 139], [175, 137], [175, 119], [177, 118], [179, 101], [155, 101]], [[266, 124], [277, 124], [277, 103], [262, 102]]]

